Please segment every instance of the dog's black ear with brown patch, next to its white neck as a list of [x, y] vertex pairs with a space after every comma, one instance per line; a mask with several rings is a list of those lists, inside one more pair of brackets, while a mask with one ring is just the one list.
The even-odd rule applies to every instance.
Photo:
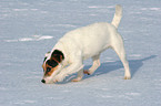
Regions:
[[61, 51], [54, 50], [51, 54], [51, 60], [57, 60], [59, 63], [64, 60], [64, 55]]

